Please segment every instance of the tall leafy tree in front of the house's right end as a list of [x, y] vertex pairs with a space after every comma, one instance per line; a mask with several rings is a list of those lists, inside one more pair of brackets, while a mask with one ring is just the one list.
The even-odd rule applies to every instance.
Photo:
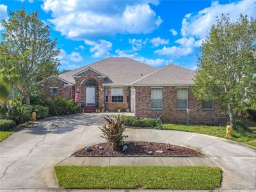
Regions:
[[217, 18], [205, 38], [198, 59], [193, 93], [202, 100], [218, 100], [236, 129], [236, 111], [256, 102], [256, 20], [241, 15], [236, 22]]

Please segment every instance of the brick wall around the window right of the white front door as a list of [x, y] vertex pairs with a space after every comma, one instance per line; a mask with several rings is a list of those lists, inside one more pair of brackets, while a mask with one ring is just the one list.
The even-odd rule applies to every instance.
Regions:
[[[117, 109], [130, 109], [130, 102], [127, 102], [127, 88], [130, 88], [129, 86], [120, 87], [124, 89], [124, 102], [122, 103], [111, 102], [112, 87], [105, 86], [105, 88], [108, 88], [108, 103], [105, 104], [106, 111], [116, 111]], [[129, 94], [129, 99], [131, 100], [131, 91]]]

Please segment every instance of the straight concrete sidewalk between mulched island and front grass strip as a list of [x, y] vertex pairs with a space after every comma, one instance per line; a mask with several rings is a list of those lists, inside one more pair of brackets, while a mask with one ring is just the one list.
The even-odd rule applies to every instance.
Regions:
[[208, 157], [68, 157], [60, 166], [218, 166]]

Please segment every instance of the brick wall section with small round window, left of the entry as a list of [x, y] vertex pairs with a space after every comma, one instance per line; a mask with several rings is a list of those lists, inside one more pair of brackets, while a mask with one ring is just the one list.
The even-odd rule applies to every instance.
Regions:
[[[51, 77], [45, 81], [42, 85], [42, 92], [45, 97], [57, 97], [61, 96], [65, 99], [74, 99], [74, 86], [64, 86], [67, 84], [56, 77]], [[51, 93], [50, 87], [58, 87], [58, 92], [56, 94]]]

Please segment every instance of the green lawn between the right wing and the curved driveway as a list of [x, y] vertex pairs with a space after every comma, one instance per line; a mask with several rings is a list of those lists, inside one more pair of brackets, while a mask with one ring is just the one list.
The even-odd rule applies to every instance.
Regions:
[[[237, 141], [239, 143], [245, 143], [256, 147], [256, 123], [246, 122], [249, 126], [244, 133], [232, 131], [232, 137], [230, 140]], [[209, 125], [175, 125], [164, 124], [163, 129], [176, 130], [176, 131], [188, 131], [198, 132], [202, 134], [209, 134], [219, 138], [226, 138], [226, 127], [209, 126]], [[227, 139], [227, 138], [226, 138]]]

